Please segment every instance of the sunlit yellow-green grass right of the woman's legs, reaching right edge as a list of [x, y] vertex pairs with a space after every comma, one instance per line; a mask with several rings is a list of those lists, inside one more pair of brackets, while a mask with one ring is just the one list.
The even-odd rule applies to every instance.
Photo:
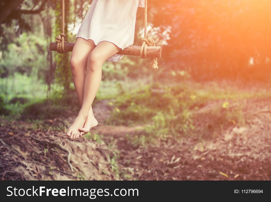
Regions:
[[[270, 97], [271, 92], [265, 89], [254, 91], [213, 82], [140, 85], [119, 93], [109, 103], [112, 111], [107, 124], [146, 125], [142, 134], [128, 138], [135, 145], [187, 135], [209, 138], [229, 126], [245, 125], [245, 100]], [[195, 113], [208, 105], [211, 108], [206, 113]]]

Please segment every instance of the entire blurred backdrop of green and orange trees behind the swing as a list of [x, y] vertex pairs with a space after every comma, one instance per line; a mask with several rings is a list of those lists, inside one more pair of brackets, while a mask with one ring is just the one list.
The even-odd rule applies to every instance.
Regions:
[[[149, 0], [148, 3], [149, 34], [157, 45], [163, 46], [158, 61], [160, 68], [150, 69], [148, 60], [135, 56], [125, 56], [118, 63], [106, 62], [103, 80], [118, 86], [110, 93], [124, 92], [118, 82], [127, 78], [150, 84], [186, 79], [270, 81], [268, 0]], [[66, 0], [65, 4], [67, 41], [75, 42], [91, 0]], [[1, 99], [6, 103], [12, 97], [33, 94], [30, 87], [27, 92], [21, 89], [21, 83], [26, 85], [25, 82], [29, 86], [36, 84], [40, 98], [44, 89], [47, 98], [52, 91], [69, 95], [66, 92], [73, 89], [70, 53], [49, 50], [49, 43], [60, 33], [60, 8], [60, 0], [0, 2]], [[144, 9], [139, 8], [135, 45], [142, 43], [143, 14]]]

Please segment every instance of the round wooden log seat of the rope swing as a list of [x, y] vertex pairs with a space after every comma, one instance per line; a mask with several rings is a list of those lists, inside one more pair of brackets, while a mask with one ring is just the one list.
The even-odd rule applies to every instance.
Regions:
[[[65, 50], [71, 52], [74, 47], [74, 43], [65, 43]], [[117, 54], [120, 55], [135, 55], [140, 56], [140, 48], [141, 46], [129, 46]], [[52, 42], [50, 43], [50, 50], [56, 51], [57, 50], [57, 43]], [[147, 57], [161, 57], [162, 54], [162, 46], [148, 46], [147, 47]]]

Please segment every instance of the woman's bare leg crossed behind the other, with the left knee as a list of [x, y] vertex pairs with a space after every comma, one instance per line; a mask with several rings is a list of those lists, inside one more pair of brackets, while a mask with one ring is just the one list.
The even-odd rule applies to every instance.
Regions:
[[[94, 48], [95, 44], [92, 40], [86, 40], [79, 37], [76, 39], [75, 46], [71, 53], [72, 78], [75, 86], [75, 91], [81, 106], [83, 104], [83, 89], [86, 76], [87, 60], [89, 54]], [[85, 124], [92, 127], [98, 124], [92, 112], [92, 107], [89, 110], [89, 118]], [[78, 134], [79, 131], [74, 131], [74, 133]], [[67, 136], [73, 137], [74, 133], [68, 131]]]

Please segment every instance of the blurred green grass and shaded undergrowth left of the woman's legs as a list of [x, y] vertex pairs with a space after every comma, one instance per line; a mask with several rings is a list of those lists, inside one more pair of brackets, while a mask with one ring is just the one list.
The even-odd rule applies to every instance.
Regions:
[[55, 85], [47, 97], [48, 86], [34, 76], [15, 73], [14, 77], [0, 78], [0, 83], [0, 114], [53, 119], [79, 110], [75, 91], [65, 92], [62, 86]]

